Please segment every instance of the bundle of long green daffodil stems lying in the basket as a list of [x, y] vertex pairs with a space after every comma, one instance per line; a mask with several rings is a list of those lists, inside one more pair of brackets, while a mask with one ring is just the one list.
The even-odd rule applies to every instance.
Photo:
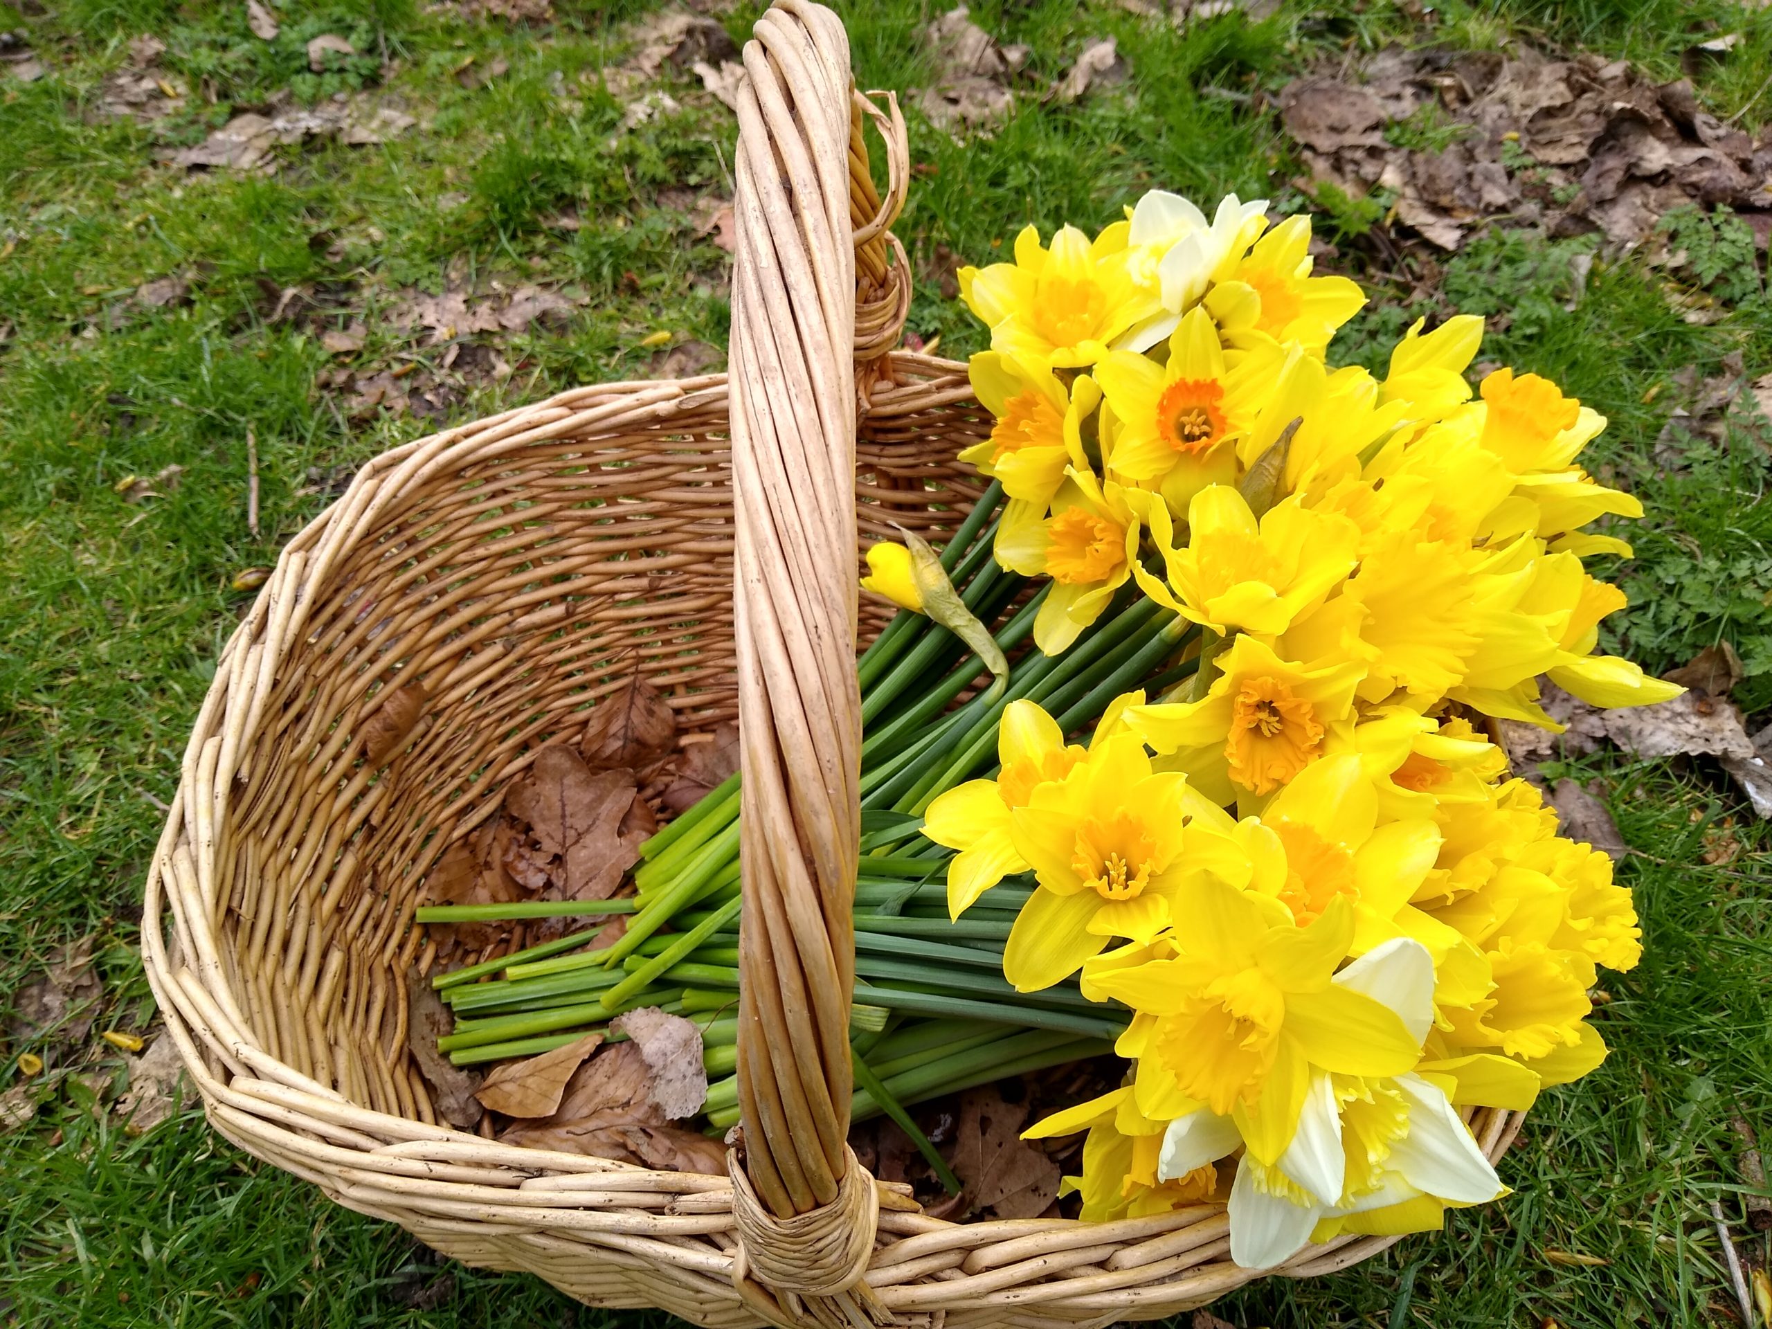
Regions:
[[[1127, 588], [1061, 656], [1022, 649], [1049, 585], [1028, 583], [991, 556], [1003, 493], [992, 484], [941, 553], [941, 565], [982, 624], [999, 624], [1014, 659], [1006, 679], [946, 627], [902, 611], [858, 661], [861, 861], [856, 881], [856, 1067], [852, 1115], [888, 1113], [934, 1095], [1111, 1051], [1127, 1012], [1086, 1001], [1076, 980], [1038, 994], [1003, 978], [1003, 946], [1030, 895], [1022, 881], [989, 891], [950, 921], [950, 849], [920, 833], [939, 794], [998, 766], [998, 725], [1017, 698], [1038, 702], [1067, 734], [1093, 723], [1129, 689], [1171, 688], [1196, 668], [1175, 663], [1187, 624]], [[661, 1006], [702, 1028], [712, 1079], [705, 1115], [737, 1122], [739, 778], [732, 776], [641, 847], [634, 898], [574, 905], [439, 905], [420, 923], [574, 914], [581, 932], [432, 982], [455, 1014], [439, 1040], [457, 1065], [560, 1047], [638, 1006]], [[519, 913], [521, 911], [521, 913]], [[601, 920], [627, 930], [590, 950]], [[618, 1037], [618, 1035], [611, 1035]], [[718, 1079], [716, 1079], [718, 1077]], [[925, 1150], [934, 1154], [934, 1150]], [[932, 1157], [932, 1162], [936, 1159]], [[937, 1168], [944, 1173], [944, 1164]]]

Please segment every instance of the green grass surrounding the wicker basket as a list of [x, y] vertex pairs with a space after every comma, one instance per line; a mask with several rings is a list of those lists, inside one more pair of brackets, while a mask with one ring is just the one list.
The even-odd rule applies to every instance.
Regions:
[[[702, 234], [700, 200], [727, 191], [730, 115], [666, 71], [680, 108], [624, 128], [622, 103], [594, 74], [624, 55], [622, 23], [645, 7], [562, 2], [556, 23], [532, 32], [447, 7], [333, 0], [285, 12], [276, 43], [250, 35], [243, 5], [74, 0], [53, 18], [0, 7], [0, 30], [27, 32], [50, 66], [34, 83], [0, 80], [0, 328], [11, 324], [0, 333], [0, 1008], [55, 946], [94, 934], [99, 1028], [147, 1028], [140, 882], [213, 661], [248, 601], [230, 585], [268, 565], [340, 475], [431, 427], [356, 418], [347, 393], [321, 383], [349, 363], [441, 374], [441, 347], [386, 321], [400, 292], [477, 278], [583, 298], [563, 328], [501, 338], [514, 372], [454, 386], [450, 420], [645, 372], [641, 340], [656, 331], [725, 342], [727, 255]], [[755, 11], [728, 16], [735, 35]], [[1325, 50], [1522, 37], [1671, 78], [1694, 39], [1742, 32], [1726, 60], [1698, 66], [1699, 92], [1747, 128], [1772, 113], [1756, 99], [1772, 74], [1772, 19], [1721, 0], [1448, 0], [1432, 28], [1372, 0], [1185, 32], [1108, 4], [1079, 18], [1058, 0], [987, 0], [973, 14], [1030, 44], [1030, 87], [1111, 34], [1134, 90], [1069, 108], [1024, 96], [994, 138], [966, 147], [911, 112], [916, 177], [900, 234], [925, 276], [911, 330], [955, 354], [982, 338], [941, 294], [941, 264], [989, 260], [1024, 223], [1099, 225], [1155, 184], [1302, 206], [1288, 184], [1299, 163], [1253, 94]], [[923, 5], [882, 0], [845, 18], [861, 87], [927, 78], [914, 41]], [[161, 67], [213, 101], [193, 96], [158, 126], [101, 115], [105, 80], [144, 32], [165, 43]], [[305, 43], [319, 32], [377, 58], [314, 74]], [[395, 62], [386, 85], [383, 46]], [[477, 85], [475, 71], [498, 60], [509, 69]], [[284, 147], [271, 174], [156, 165], [156, 151], [198, 142], [280, 89], [298, 103], [367, 89], [420, 124], [385, 145]], [[1425, 117], [1405, 136], [1432, 147], [1441, 131]], [[1347, 248], [1357, 268], [1361, 248]], [[1471, 308], [1492, 317], [1485, 358], [1550, 374], [1611, 418], [1598, 464], [1652, 505], [1637, 558], [1620, 569], [1636, 602], [1616, 645], [1660, 670], [1728, 640], [1749, 668], [1738, 700], [1772, 707], [1767, 429], [1744, 420], [1719, 445], [1655, 452], [1685, 367], [1703, 381], [1738, 353], [1749, 377], [1772, 370], [1763, 287], [1742, 287], [1738, 262], [1721, 268], [1710, 294], [1724, 317], [1694, 326], [1639, 259], [1515, 232], [1480, 237], [1435, 282], [1363, 275], [1377, 299], [1343, 354], [1377, 363], [1414, 317]], [[165, 276], [188, 282], [188, 301], [131, 299]], [[276, 317], [291, 287], [292, 312]], [[321, 333], [356, 317], [363, 351], [330, 356]], [[260, 537], [245, 517], [248, 425]], [[168, 464], [184, 471], [163, 498], [133, 505], [117, 493]], [[1611, 1061], [1535, 1115], [1503, 1166], [1510, 1200], [1348, 1274], [1258, 1285], [1216, 1308], [1233, 1324], [1735, 1322], [1708, 1201], [1721, 1198], [1745, 1233], [1729, 1123], [1738, 1115], [1772, 1132], [1772, 845], [1714, 773], [1616, 757], [1570, 773], [1605, 797], [1637, 851], [1621, 872], [1648, 948], [1636, 973], [1607, 980]], [[0, 1090], [19, 1083], [16, 1054], [28, 1049], [4, 1051]], [[101, 1095], [120, 1070], [103, 1044], [67, 1056], [99, 1076]], [[195, 1113], [129, 1138], [94, 1113], [90, 1084], [39, 1084], [37, 1122], [0, 1136], [11, 1201], [0, 1324], [664, 1322], [578, 1308], [532, 1278], [438, 1267], [397, 1228], [237, 1154]], [[1742, 1253], [1763, 1263], [1763, 1239]]]

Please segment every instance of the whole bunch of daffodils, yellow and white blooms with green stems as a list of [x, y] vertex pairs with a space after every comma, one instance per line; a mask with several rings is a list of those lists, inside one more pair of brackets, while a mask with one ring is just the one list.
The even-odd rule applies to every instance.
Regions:
[[[991, 487], [941, 551], [868, 551], [902, 613], [858, 661], [854, 1120], [960, 1191], [907, 1106], [1118, 1053], [1118, 1088], [1030, 1132], [1088, 1132], [1083, 1217], [1224, 1201], [1256, 1269], [1494, 1200], [1473, 1111], [1605, 1056], [1588, 989], [1637, 960], [1630, 893], [1487, 727], [1554, 728], [1542, 677], [1678, 691], [1593, 654], [1625, 597], [1582, 558], [1628, 548], [1586, 526], [1641, 512], [1575, 464], [1605, 422], [1506, 369], [1473, 399], [1473, 317], [1412, 328], [1382, 381], [1333, 369], [1364, 298], [1308, 248], [1302, 216], [1150, 193], [964, 269]], [[436, 975], [439, 1051], [583, 1051], [657, 1008], [709, 1076], [682, 1120], [734, 1125], [737, 785], [615, 898], [422, 909], [626, 916]]]

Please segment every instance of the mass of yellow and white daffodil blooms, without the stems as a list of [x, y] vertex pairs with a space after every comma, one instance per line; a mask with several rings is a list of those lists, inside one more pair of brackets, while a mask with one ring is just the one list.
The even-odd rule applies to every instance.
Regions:
[[1088, 1131], [1083, 1216], [1226, 1200], [1246, 1267], [1503, 1194], [1467, 1109], [1593, 1070], [1597, 966], [1641, 948], [1611, 861], [1508, 778], [1487, 718], [1556, 728], [1542, 677], [1678, 693], [1593, 654], [1625, 597], [1582, 558], [1628, 548], [1586, 526], [1641, 516], [1577, 464], [1605, 420], [1508, 369], [1473, 397], [1476, 317], [1411, 328], [1384, 379], [1333, 367], [1364, 296], [1308, 246], [1304, 216], [1150, 193], [960, 271], [996, 416], [962, 457], [1008, 500], [996, 560], [1051, 583], [1035, 643], [1136, 588], [1193, 668], [1111, 700], [1088, 746], [1012, 702], [999, 771], [923, 824], [957, 851], [952, 918], [1031, 886], [1017, 992], [1131, 1012], [1123, 1086], [1030, 1132]]

